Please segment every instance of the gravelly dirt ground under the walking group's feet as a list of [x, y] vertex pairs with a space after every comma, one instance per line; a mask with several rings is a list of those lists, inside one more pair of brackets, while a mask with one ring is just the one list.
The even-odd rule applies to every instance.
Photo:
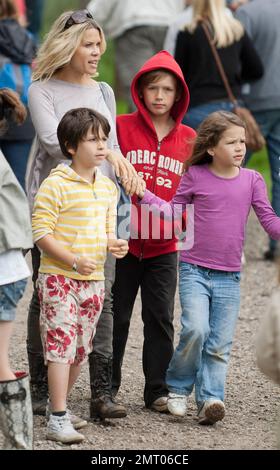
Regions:
[[[143, 403], [141, 368], [142, 322], [137, 300], [123, 365], [123, 382], [118, 400], [126, 405], [128, 416], [106, 425], [89, 423], [83, 429], [86, 439], [71, 446], [46, 441], [45, 418], [34, 419], [34, 448], [42, 449], [273, 449], [279, 388], [258, 371], [254, 337], [260, 317], [265, 313], [277, 283], [275, 264], [264, 262], [267, 238], [251, 216], [246, 242], [246, 265], [242, 276], [242, 305], [235, 335], [226, 387], [226, 416], [215, 426], [199, 426], [195, 420], [193, 396], [183, 419], [148, 411]], [[11, 362], [16, 369], [27, 368], [25, 348], [27, 308], [31, 285], [20, 303], [11, 345]], [[176, 297], [176, 336], [178, 340], [180, 306]], [[89, 415], [89, 375], [87, 365], [72, 391], [69, 407], [85, 418]], [[1, 437], [0, 437], [1, 444]], [[1, 446], [0, 446], [1, 447]]]

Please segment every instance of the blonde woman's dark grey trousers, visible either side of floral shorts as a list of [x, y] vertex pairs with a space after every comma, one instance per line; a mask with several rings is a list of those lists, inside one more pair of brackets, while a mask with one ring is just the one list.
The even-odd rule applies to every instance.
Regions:
[[[112, 356], [112, 335], [113, 335], [113, 316], [112, 316], [112, 285], [115, 279], [115, 258], [108, 253], [105, 263], [105, 299], [100, 315], [96, 334], [93, 339], [93, 352], [110, 358]], [[27, 326], [27, 351], [33, 355], [43, 356], [43, 348], [40, 336], [39, 317], [40, 304], [36, 281], [40, 266], [40, 252], [35, 246], [32, 249], [32, 267], [34, 284], [33, 296], [31, 298], [28, 312]], [[91, 353], [91, 354], [92, 354]], [[33, 383], [36, 383], [36, 377], [31, 377]]]

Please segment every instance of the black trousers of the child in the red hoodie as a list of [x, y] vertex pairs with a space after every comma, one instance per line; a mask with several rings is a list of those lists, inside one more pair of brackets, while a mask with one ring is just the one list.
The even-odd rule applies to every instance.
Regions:
[[121, 383], [121, 367], [130, 319], [141, 287], [144, 323], [144, 401], [147, 407], [167, 395], [165, 373], [173, 354], [173, 310], [177, 283], [177, 253], [139, 261], [128, 255], [117, 260], [113, 286], [113, 387]]

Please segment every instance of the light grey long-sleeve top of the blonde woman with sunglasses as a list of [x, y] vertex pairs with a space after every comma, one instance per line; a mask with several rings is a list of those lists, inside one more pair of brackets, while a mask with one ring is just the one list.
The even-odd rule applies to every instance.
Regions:
[[[56, 131], [59, 121], [67, 111], [87, 107], [106, 116], [111, 126], [108, 147], [119, 149], [115, 128], [114, 92], [107, 83], [103, 82], [102, 85], [101, 90], [97, 82], [93, 82], [93, 86], [86, 86], [50, 79], [44, 82], [33, 82], [30, 86], [29, 109], [36, 130], [36, 139], [27, 172], [27, 193], [31, 208], [42, 181], [58, 163], [65, 160], [59, 147]], [[116, 182], [114, 170], [109, 162], [102, 162], [101, 170], [104, 175]]]

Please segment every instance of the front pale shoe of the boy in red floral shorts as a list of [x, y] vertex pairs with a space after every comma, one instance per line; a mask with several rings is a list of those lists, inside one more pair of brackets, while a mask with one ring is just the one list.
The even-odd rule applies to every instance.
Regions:
[[46, 438], [63, 444], [72, 444], [83, 441], [85, 436], [75, 431], [69, 415], [66, 413], [64, 416], [50, 415]]

